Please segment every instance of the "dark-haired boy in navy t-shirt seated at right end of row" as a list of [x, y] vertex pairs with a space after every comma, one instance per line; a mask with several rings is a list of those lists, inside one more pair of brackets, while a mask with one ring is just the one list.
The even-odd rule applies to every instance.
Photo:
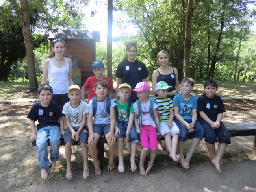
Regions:
[[[204, 127], [204, 140], [211, 153], [211, 162], [221, 172], [221, 158], [231, 141], [228, 129], [221, 121], [223, 113], [226, 111], [223, 100], [215, 94], [217, 89], [218, 83], [214, 79], [208, 79], [204, 82], [205, 94], [197, 99], [197, 111], [200, 115], [198, 120]], [[216, 154], [215, 143], [218, 141], [219, 146]]]

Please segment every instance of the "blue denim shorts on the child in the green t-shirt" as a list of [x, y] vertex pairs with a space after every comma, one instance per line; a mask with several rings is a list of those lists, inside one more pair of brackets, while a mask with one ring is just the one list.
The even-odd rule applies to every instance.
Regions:
[[[120, 130], [120, 134], [118, 134], [118, 138], [126, 137], [127, 126], [128, 126], [128, 121], [118, 121], [117, 127]], [[132, 129], [129, 134], [129, 141], [130, 142], [139, 142], [139, 134], [136, 132], [136, 127], [134, 124], [132, 125]]]

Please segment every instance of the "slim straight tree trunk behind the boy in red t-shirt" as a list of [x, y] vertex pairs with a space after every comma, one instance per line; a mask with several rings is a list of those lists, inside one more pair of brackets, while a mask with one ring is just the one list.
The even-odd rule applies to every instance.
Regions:
[[108, 0], [107, 76], [112, 81], [112, 22], [113, 0]]

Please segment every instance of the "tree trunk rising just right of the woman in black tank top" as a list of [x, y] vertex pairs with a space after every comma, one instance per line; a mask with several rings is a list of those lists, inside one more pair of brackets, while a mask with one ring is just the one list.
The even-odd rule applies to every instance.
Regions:
[[190, 77], [191, 27], [193, 17], [193, 0], [188, 0], [187, 21], [184, 41], [183, 76]]

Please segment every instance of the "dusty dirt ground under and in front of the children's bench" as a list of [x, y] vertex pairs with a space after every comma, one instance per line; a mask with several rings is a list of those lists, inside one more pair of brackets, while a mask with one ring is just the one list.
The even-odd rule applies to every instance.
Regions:
[[[225, 116], [226, 122], [252, 122], [255, 111], [234, 111]], [[19, 125], [19, 126], [17, 126]], [[210, 154], [204, 141], [200, 142], [188, 170], [180, 164], [171, 161], [170, 157], [158, 151], [154, 167], [148, 177], [142, 177], [139, 170], [130, 170], [130, 151], [124, 150], [125, 172], [119, 173], [117, 168], [108, 172], [108, 150], [106, 162], [102, 168], [102, 175], [96, 176], [93, 164], [89, 158], [90, 177], [82, 178], [83, 162], [81, 148], [72, 155], [72, 172], [74, 179], [65, 179], [65, 147], [61, 146], [60, 156], [55, 168], [48, 170], [49, 179], [42, 182], [37, 153], [29, 141], [30, 126], [26, 116], [0, 118], [0, 189], [14, 192], [112, 192], [112, 191], [256, 191], [255, 170], [256, 156], [251, 155], [254, 136], [232, 137], [232, 144], [228, 146], [223, 156], [222, 173], [217, 172], [210, 161]], [[191, 144], [186, 142], [185, 152]], [[108, 149], [108, 146], [106, 145]], [[48, 148], [49, 150], [49, 148]], [[50, 152], [50, 151], [48, 151]], [[136, 164], [139, 166], [140, 148], [137, 149]], [[150, 154], [149, 154], [150, 155]], [[150, 159], [147, 155], [145, 166]], [[118, 156], [115, 157], [116, 166]], [[1, 191], [1, 190], [0, 190]]]

